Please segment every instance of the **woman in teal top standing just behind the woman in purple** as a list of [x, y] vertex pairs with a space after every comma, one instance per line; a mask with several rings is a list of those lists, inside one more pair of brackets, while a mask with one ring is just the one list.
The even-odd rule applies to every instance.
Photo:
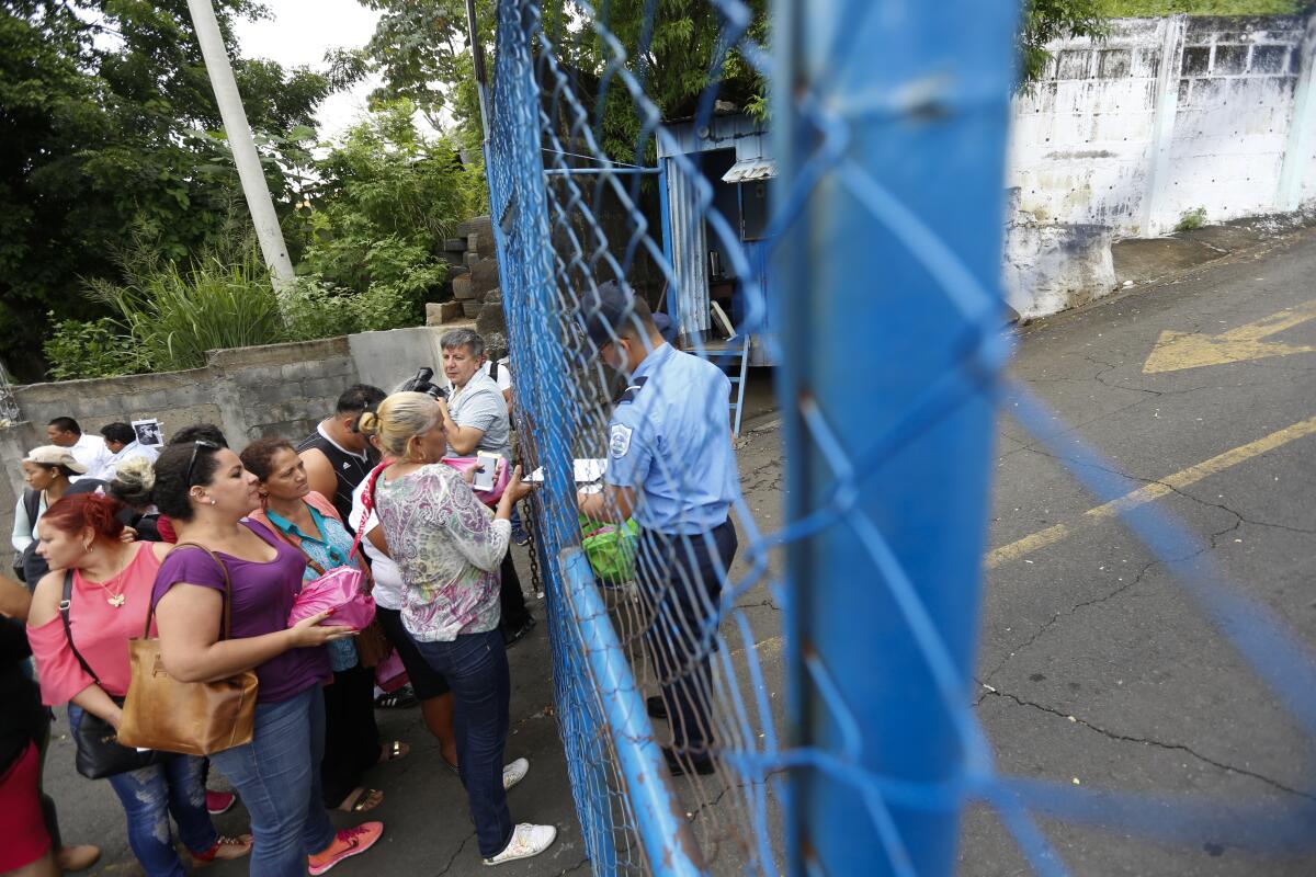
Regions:
[[[261, 480], [263, 509], [251, 517], [270, 526], [307, 556], [307, 581], [324, 571], [357, 563], [353, 538], [333, 504], [311, 489], [290, 442], [262, 438], [243, 448], [242, 465]], [[316, 569], [318, 567], [318, 569]], [[350, 639], [330, 643], [333, 685], [325, 688], [325, 757], [320, 767], [326, 807], [374, 810], [384, 793], [362, 785], [366, 769], [400, 759], [409, 747], [383, 746], [375, 723], [375, 673], [362, 667]]]

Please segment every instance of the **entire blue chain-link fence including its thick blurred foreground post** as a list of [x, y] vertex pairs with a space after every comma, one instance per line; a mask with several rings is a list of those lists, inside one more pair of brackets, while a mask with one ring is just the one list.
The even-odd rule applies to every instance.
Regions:
[[[1063, 864], [1034, 814], [1304, 843], [1311, 799], [1190, 803], [995, 773], [970, 685], [1008, 355], [1000, 168], [1019, 11], [774, 9], [767, 28], [762, 4], [737, 0], [497, 4], [492, 214], [522, 456], [544, 472], [533, 530], [558, 717], [595, 872], [949, 873], [969, 801], [1042, 873]], [[769, 33], [784, 70], [755, 41]], [[665, 118], [654, 39], [671, 57], [682, 34], [712, 84]], [[721, 184], [771, 174], [771, 156], [728, 168], [701, 149], [762, 135], [719, 104], [733, 80], [775, 87], [783, 179], [758, 237], [746, 191], [733, 183], [728, 200]], [[774, 308], [762, 241], [780, 250]], [[738, 490], [729, 505], [717, 490], [732, 447], [717, 369], [740, 360], [708, 301], [712, 250], [737, 279], [730, 341], [758, 333], [783, 363], [787, 519], [763, 533]], [[645, 306], [619, 313], [609, 281]], [[669, 380], [646, 309], [674, 313], [687, 351], [713, 366], [679, 360]], [[1025, 426], [1055, 434], [1023, 391], [1012, 398]], [[1073, 447], [1065, 459], [1119, 496], [1109, 467]], [[578, 460], [607, 462], [601, 488], [576, 483]], [[629, 485], [637, 497], [616, 489]], [[582, 521], [582, 494], [597, 519]], [[734, 552], [713, 526], [724, 505]], [[1158, 556], [1194, 544], [1159, 511], [1116, 511]], [[1308, 656], [1207, 563], [1190, 593], [1316, 731]], [[653, 697], [666, 721], [645, 715]], [[686, 776], [667, 776], [661, 748]]]

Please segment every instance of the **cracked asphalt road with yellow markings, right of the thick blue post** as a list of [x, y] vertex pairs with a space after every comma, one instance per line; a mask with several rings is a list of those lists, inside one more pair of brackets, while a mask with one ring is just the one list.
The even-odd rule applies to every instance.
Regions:
[[[1020, 331], [1013, 375], [1316, 647], [1316, 231]], [[1163, 334], [1166, 333], [1166, 334]], [[1304, 350], [1307, 348], [1307, 350]], [[1061, 454], [1059, 456], [1067, 456]], [[1007, 773], [1175, 803], [1311, 802], [1311, 740], [1159, 563], [1008, 417], [975, 705]], [[1182, 564], [1178, 564], [1182, 565]], [[1303, 692], [1307, 698], [1316, 696]], [[1312, 874], [1245, 838], [1041, 823], [1078, 874]], [[1153, 820], [1152, 836], [1163, 828]], [[1311, 836], [1316, 836], [1316, 824]], [[963, 874], [1030, 873], [966, 820]]]

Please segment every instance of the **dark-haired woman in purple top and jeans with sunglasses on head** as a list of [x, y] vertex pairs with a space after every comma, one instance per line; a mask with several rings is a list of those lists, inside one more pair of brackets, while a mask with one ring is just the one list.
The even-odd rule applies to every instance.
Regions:
[[321, 626], [328, 613], [288, 627], [305, 560], [245, 519], [259, 506], [257, 479], [229, 448], [209, 442], [166, 448], [155, 462], [153, 498], [179, 543], [218, 555], [233, 584], [233, 635], [220, 639], [224, 571], [200, 548], [170, 552], [151, 594], [164, 668], [184, 682], [247, 669], [261, 681], [251, 742], [211, 756], [251, 815], [251, 873], [322, 874], [383, 834], [378, 822], [336, 832], [320, 801], [320, 686], [330, 676], [324, 644], [353, 631]]

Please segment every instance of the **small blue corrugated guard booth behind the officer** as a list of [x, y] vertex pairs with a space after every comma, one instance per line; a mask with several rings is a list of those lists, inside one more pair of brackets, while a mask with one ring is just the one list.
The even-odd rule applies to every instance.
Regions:
[[[758, 281], [765, 308], [771, 283], [766, 233], [776, 164], [769, 134], [738, 112], [715, 113], [711, 124], [699, 129], [694, 121], [666, 122], [666, 128], [676, 147], [658, 145], [663, 249], [676, 283], [662, 306], [680, 326], [687, 348], [697, 341], [709, 355], [725, 351], [744, 355], [749, 366], [772, 366], [771, 313], [765, 310], [761, 320], [746, 323], [749, 280]], [[690, 162], [692, 172], [675, 160], [678, 155]], [[712, 189], [711, 206], [741, 242], [747, 272], [736, 270], [722, 237], [712, 227], [715, 221], [703, 216], [699, 180]], [[742, 331], [729, 338], [728, 327]]]

